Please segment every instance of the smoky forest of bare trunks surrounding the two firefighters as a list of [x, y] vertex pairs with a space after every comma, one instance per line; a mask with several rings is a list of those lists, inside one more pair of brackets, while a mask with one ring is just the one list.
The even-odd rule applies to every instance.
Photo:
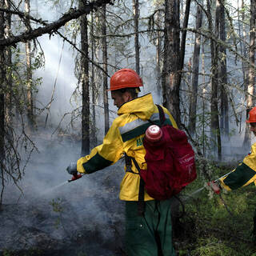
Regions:
[[256, 142], [255, 30], [255, 0], [2, 0], [0, 256], [126, 255], [123, 160], [66, 182], [118, 116], [108, 89], [122, 68], [196, 155], [198, 178], [173, 202], [177, 255], [256, 255], [254, 185], [206, 186]]

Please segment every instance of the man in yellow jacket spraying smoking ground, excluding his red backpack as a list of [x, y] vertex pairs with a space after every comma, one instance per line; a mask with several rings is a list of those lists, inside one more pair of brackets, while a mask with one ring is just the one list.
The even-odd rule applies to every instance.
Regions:
[[[110, 78], [110, 92], [114, 105], [118, 107], [118, 118], [114, 119], [102, 145], [96, 146], [89, 155], [70, 163], [70, 174], [91, 174], [118, 162], [124, 154], [135, 158], [140, 168], [146, 168], [146, 150], [142, 139], [149, 120], [159, 122], [158, 107], [151, 94], [138, 97], [142, 79], [134, 70], [118, 70]], [[166, 122], [177, 128], [174, 118], [163, 108]], [[140, 176], [131, 162], [120, 186], [119, 198], [126, 201], [126, 253], [128, 256], [174, 256], [170, 200], [156, 201], [144, 191], [144, 212], [138, 214]]]

